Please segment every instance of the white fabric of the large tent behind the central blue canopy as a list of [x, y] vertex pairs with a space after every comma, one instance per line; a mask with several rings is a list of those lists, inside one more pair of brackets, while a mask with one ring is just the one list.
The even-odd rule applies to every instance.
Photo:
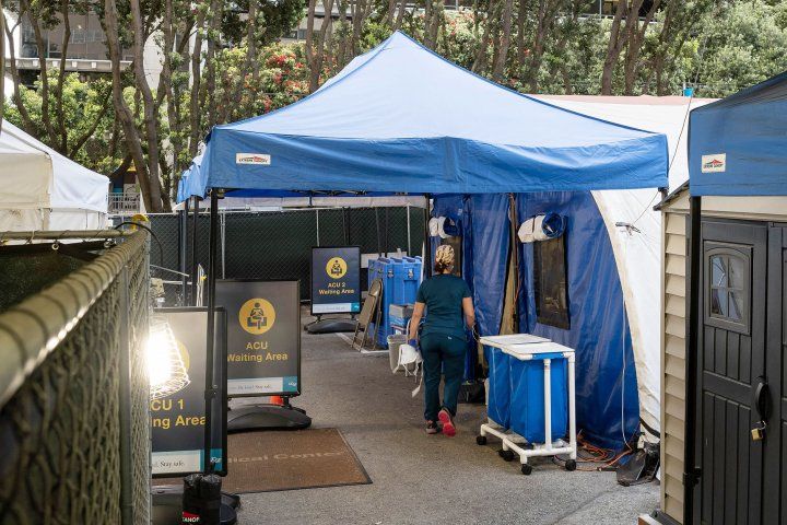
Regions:
[[[689, 179], [688, 112], [713, 102], [682, 96], [538, 97], [584, 115], [665, 133], [670, 153], [669, 189]], [[626, 302], [639, 413], [648, 427], [660, 431], [661, 214], [653, 209], [659, 194], [633, 189], [594, 191], [592, 195], [607, 224]]]

